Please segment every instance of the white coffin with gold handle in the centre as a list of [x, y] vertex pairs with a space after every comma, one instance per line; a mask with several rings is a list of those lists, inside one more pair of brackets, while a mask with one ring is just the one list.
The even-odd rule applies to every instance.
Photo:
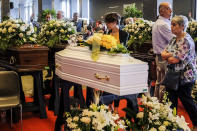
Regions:
[[55, 62], [56, 75], [64, 80], [120, 96], [148, 90], [148, 64], [128, 54], [101, 52], [95, 62], [88, 48], [67, 47], [56, 53]]

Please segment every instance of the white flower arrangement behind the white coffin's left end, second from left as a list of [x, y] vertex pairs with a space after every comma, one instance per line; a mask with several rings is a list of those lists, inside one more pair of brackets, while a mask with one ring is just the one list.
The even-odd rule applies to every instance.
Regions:
[[39, 44], [53, 48], [58, 44], [67, 42], [70, 35], [76, 33], [76, 27], [72, 22], [64, 22], [59, 20], [51, 20], [41, 27], [38, 35]]

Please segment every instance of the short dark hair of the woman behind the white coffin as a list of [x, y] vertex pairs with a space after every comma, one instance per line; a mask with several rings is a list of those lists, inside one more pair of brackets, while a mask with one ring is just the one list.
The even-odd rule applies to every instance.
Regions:
[[116, 22], [117, 25], [120, 24], [120, 15], [118, 13], [108, 13], [105, 15], [105, 23]]

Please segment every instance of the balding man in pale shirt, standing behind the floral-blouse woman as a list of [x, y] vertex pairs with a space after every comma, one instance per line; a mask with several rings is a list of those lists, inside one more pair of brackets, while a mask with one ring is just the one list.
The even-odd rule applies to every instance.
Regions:
[[155, 22], [152, 28], [152, 44], [153, 50], [156, 54], [156, 70], [157, 70], [157, 80], [155, 85], [155, 93], [154, 96], [161, 99], [162, 91], [164, 90], [164, 86], [161, 86], [161, 82], [164, 78], [166, 71], [166, 61], [162, 60], [161, 52], [168, 45], [170, 40], [173, 37], [171, 33], [171, 18], [172, 8], [170, 3], [162, 2], [159, 5], [159, 18]]

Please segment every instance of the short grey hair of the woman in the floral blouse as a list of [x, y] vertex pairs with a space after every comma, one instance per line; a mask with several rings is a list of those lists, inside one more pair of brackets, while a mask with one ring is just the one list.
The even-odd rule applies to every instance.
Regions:
[[188, 26], [188, 19], [186, 16], [183, 15], [176, 15], [172, 18], [172, 22], [179, 24], [180, 26], [184, 26], [184, 31], [187, 30]]

